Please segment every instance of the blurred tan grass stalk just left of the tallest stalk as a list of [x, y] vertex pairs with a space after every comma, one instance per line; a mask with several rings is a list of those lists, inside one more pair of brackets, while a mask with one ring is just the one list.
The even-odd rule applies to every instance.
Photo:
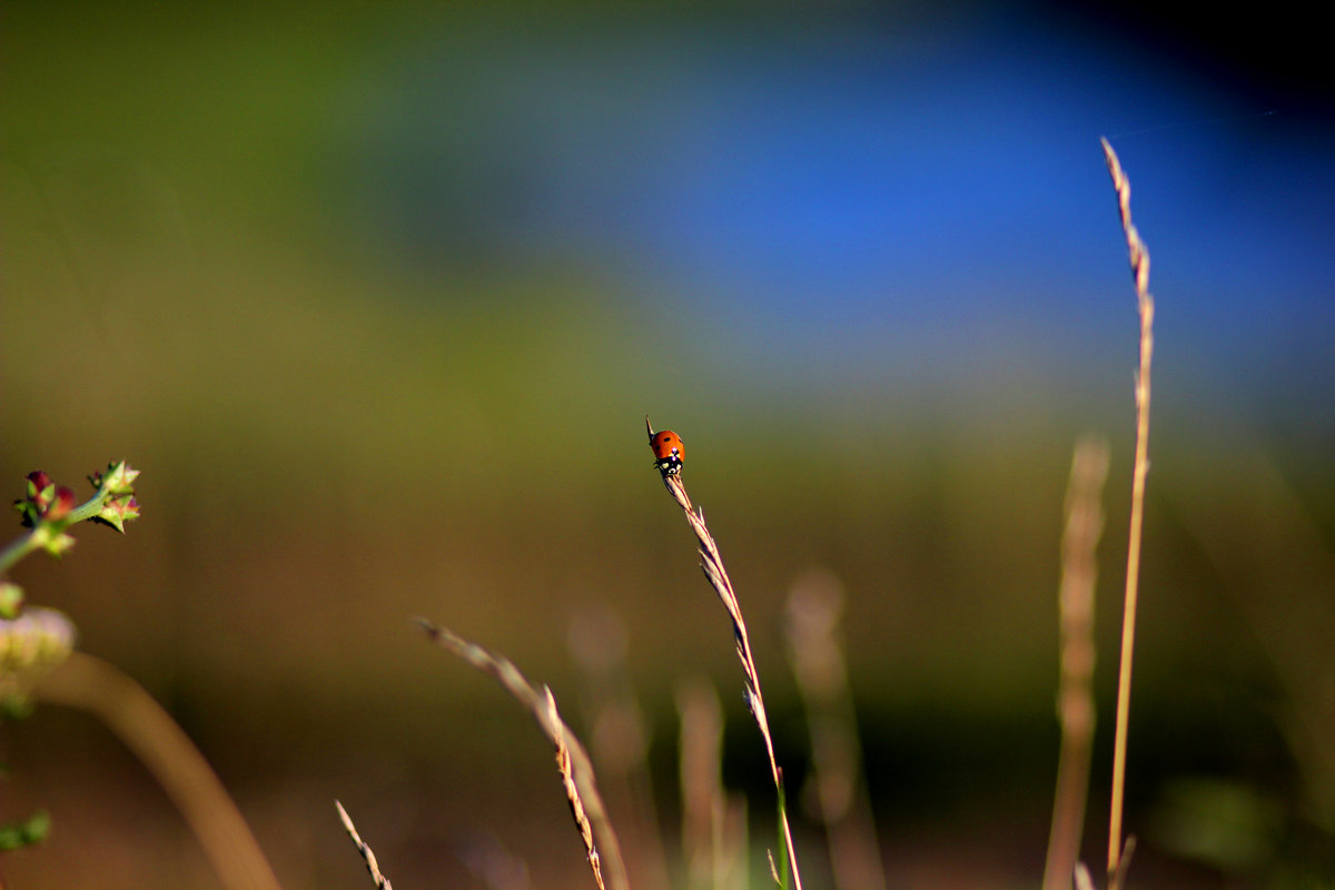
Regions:
[[1043, 870], [1044, 890], [1069, 886], [1084, 831], [1095, 723], [1095, 550], [1103, 534], [1100, 499], [1107, 476], [1108, 443], [1093, 436], [1076, 442], [1067, 484], [1067, 527], [1061, 538], [1061, 682], [1057, 691], [1061, 749], [1048, 859]]

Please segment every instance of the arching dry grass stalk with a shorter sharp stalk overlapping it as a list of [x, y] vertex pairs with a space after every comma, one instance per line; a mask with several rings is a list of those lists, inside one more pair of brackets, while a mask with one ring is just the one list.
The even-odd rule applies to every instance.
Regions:
[[[550, 691], [541, 695], [510, 659], [494, 655], [477, 643], [471, 643], [425, 618], [415, 620], [433, 642], [450, 650], [483, 674], [495, 678], [517, 702], [533, 714], [543, 734], [557, 747], [558, 766], [562, 766], [562, 750], [565, 751], [566, 763], [562, 769], [562, 782], [566, 786], [570, 809], [575, 814], [575, 826], [579, 829], [581, 838], [585, 839], [594, 879], [598, 882], [599, 890], [603, 887], [603, 877], [606, 877], [611, 890], [629, 890], [626, 866], [621, 858], [621, 845], [617, 842], [617, 834], [607, 819], [602, 795], [598, 794], [593, 763], [583, 745], [557, 713]], [[581, 817], [583, 818], [581, 819]]]

